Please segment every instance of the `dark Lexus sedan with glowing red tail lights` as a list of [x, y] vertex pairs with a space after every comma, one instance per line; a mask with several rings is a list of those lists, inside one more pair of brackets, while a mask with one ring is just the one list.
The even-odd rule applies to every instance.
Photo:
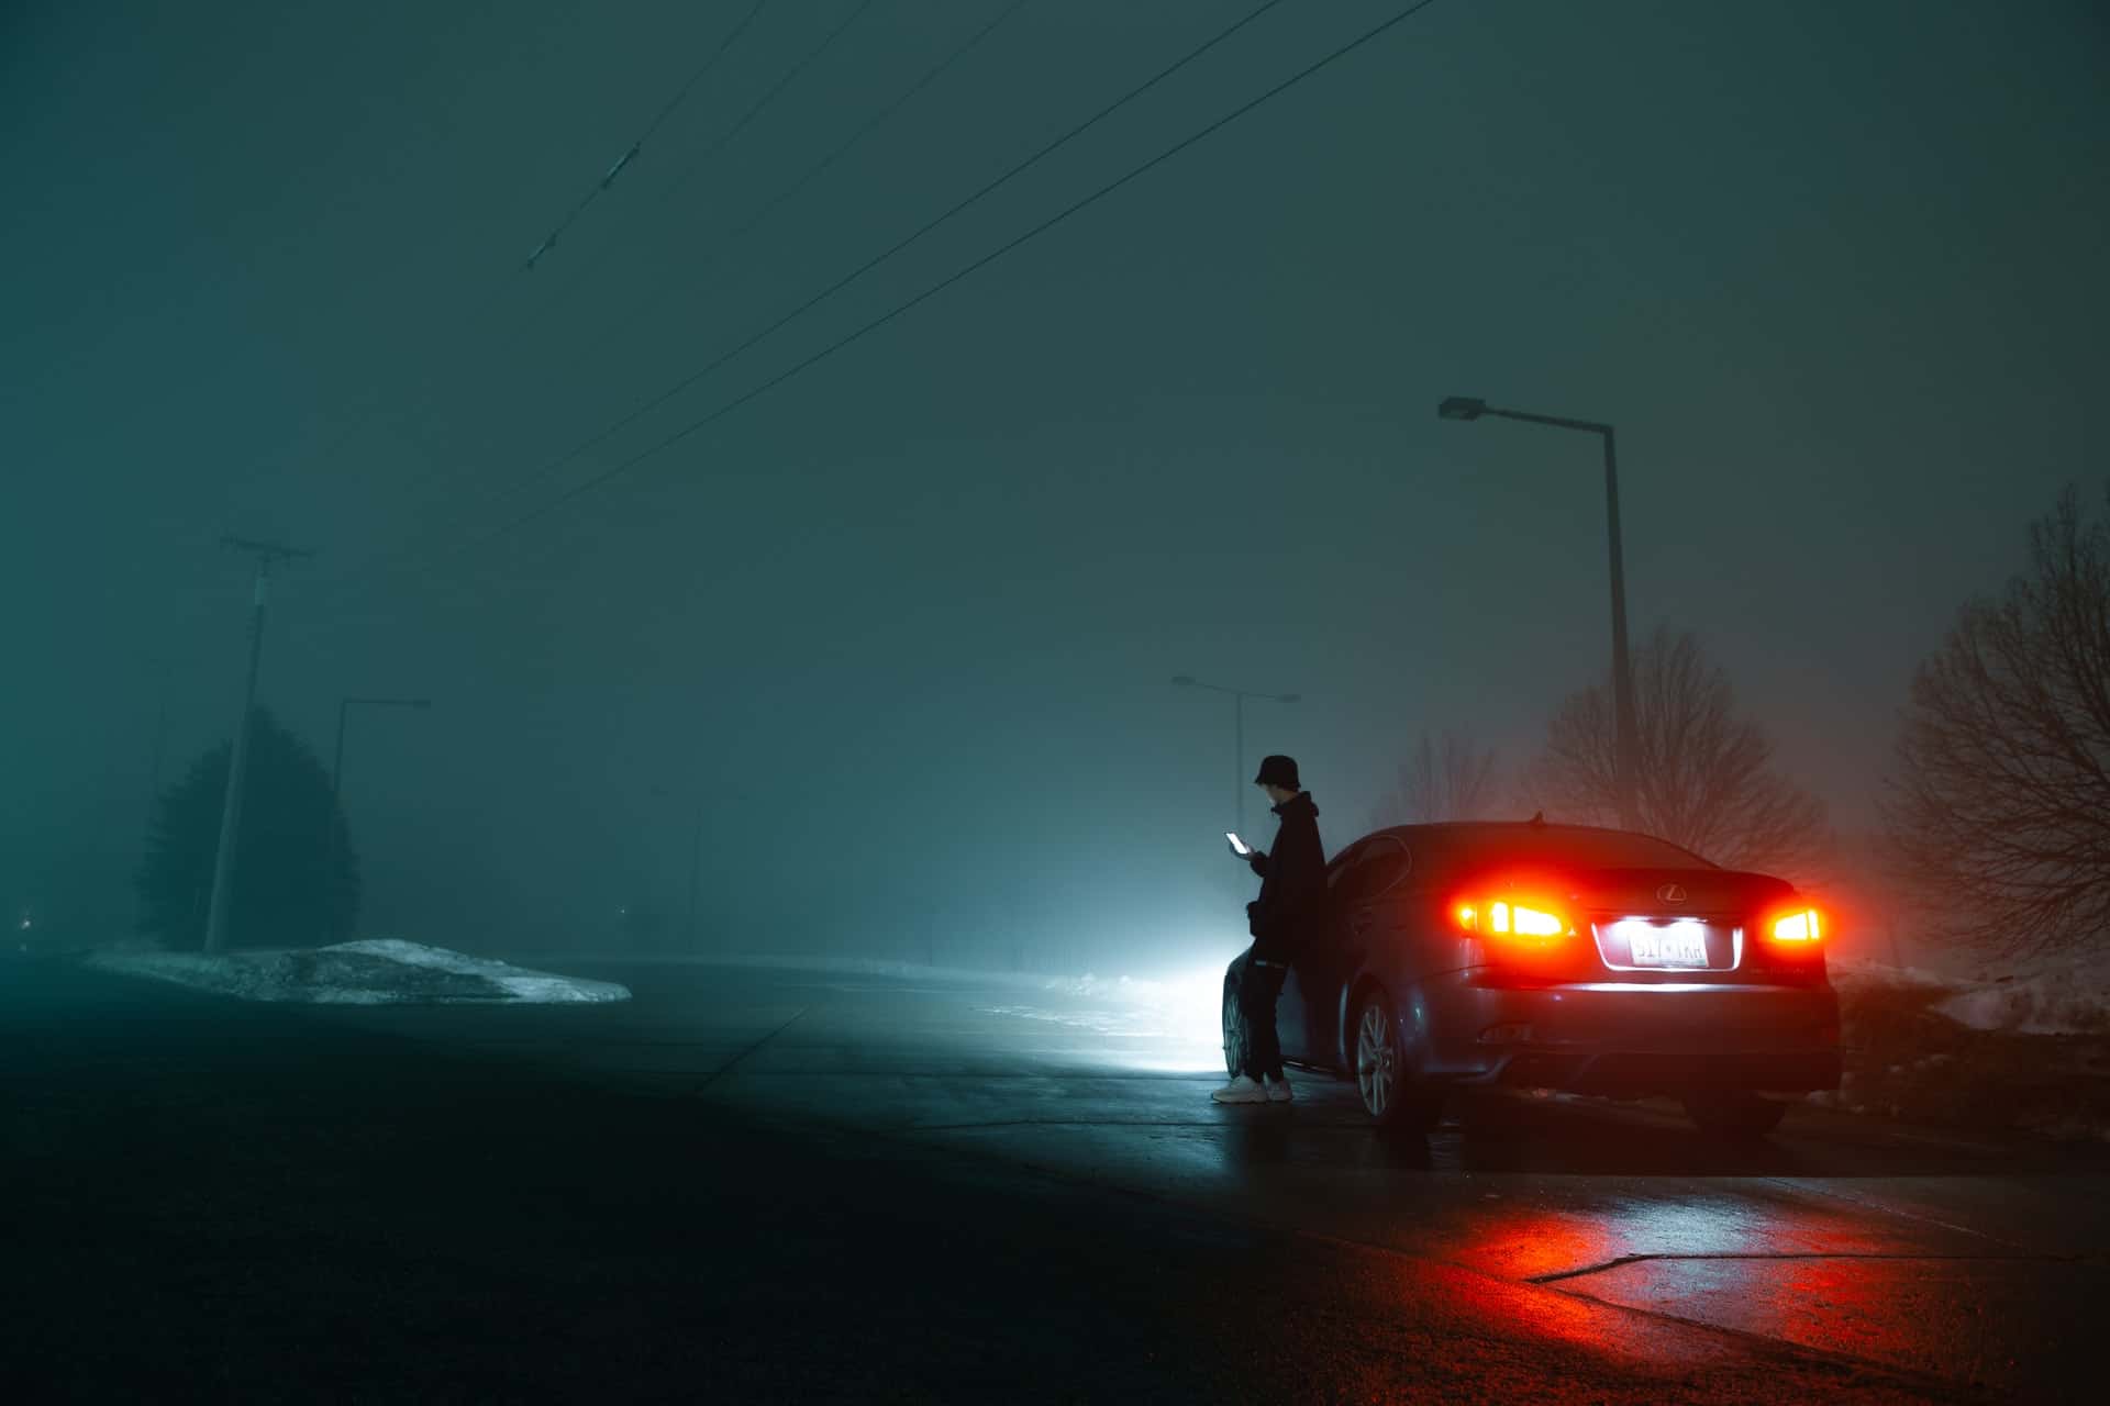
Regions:
[[[1378, 831], [1327, 864], [1277, 1008], [1283, 1056], [1353, 1075], [1395, 1128], [1433, 1128], [1452, 1088], [1496, 1083], [1669, 1094], [1701, 1128], [1758, 1136], [1840, 1081], [1825, 927], [1789, 883], [1648, 835]], [[1232, 1071], [1247, 955], [1224, 976]]]

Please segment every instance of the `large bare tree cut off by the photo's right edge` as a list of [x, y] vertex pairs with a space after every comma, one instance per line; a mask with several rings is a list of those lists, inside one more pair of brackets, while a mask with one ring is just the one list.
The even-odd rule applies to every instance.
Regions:
[[2110, 519], [2074, 489], [1920, 664], [1886, 782], [1893, 856], [1952, 934], [2045, 953], [2110, 932]]

